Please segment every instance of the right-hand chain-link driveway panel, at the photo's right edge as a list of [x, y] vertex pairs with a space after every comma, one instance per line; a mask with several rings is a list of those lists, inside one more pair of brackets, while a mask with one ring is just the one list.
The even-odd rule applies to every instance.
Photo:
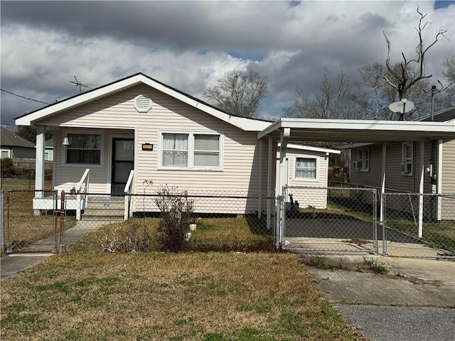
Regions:
[[455, 259], [455, 195], [385, 193], [383, 253]]

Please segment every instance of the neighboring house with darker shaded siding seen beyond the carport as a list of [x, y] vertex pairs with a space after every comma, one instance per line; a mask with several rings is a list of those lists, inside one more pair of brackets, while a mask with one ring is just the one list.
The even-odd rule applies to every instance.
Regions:
[[[455, 107], [417, 121], [455, 121]], [[350, 183], [380, 188], [382, 144], [351, 144], [342, 148], [351, 149]], [[387, 143], [386, 159], [386, 191], [419, 193], [419, 143]], [[424, 193], [455, 193], [455, 139], [425, 141], [424, 170]], [[444, 205], [444, 200], [441, 204], [432, 219], [455, 220], [453, 204]]]

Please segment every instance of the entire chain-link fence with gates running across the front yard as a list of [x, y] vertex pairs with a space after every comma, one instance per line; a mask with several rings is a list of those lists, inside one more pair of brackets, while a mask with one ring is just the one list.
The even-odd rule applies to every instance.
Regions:
[[247, 241], [252, 240], [255, 250], [273, 248], [279, 233], [275, 207], [282, 207], [284, 249], [455, 258], [455, 195], [385, 193], [382, 224], [376, 189], [308, 186], [284, 188], [282, 202], [270, 193], [247, 191], [161, 188], [106, 195], [9, 190], [3, 197], [2, 247], [8, 252], [60, 251], [109, 225], [97, 237], [98, 247], [109, 249], [107, 244], [112, 247], [118, 237], [115, 231], [139, 220], [156, 232], [163, 202], [174, 199], [186, 205], [182, 212], [190, 207], [182, 228], [188, 245], [201, 251], [242, 251], [251, 249]]

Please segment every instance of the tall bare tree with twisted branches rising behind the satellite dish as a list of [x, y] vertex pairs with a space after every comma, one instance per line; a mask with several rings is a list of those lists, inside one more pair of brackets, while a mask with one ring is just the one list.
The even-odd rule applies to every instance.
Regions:
[[[419, 13], [419, 25], [416, 28], [417, 36], [419, 42], [417, 43], [415, 55], [408, 59], [405, 56], [405, 53], [401, 53], [402, 61], [400, 63], [392, 64], [390, 62], [390, 40], [387, 38], [385, 32], [383, 32], [385, 41], [387, 42], [387, 59], [385, 60], [385, 67], [387, 68], [388, 73], [382, 74], [380, 77], [387, 82], [387, 85], [392, 87], [398, 94], [398, 99], [405, 99], [410, 94], [412, 87], [415, 87], [418, 82], [423, 80], [428, 80], [432, 75], [427, 75], [425, 73], [425, 58], [427, 52], [434, 44], [437, 43], [440, 37], [444, 37], [444, 34], [447, 30], [440, 29], [434, 39], [429, 45], [425, 45], [424, 38], [422, 33], [429, 24], [425, 20], [427, 14], [422, 13], [417, 7], [417, 13]], [[405, 114], [400, 114], [399, 119], [405, 120]]]

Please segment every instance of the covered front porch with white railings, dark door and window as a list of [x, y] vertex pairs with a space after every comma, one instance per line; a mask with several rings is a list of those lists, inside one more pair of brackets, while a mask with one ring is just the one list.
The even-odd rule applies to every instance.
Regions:
[[[53, 196], [45, 197], [42, 191], [45, 130], [52, 130], [54, 134], [52, 188], [58, 193], [57, 200]], [[55, 207], [60, 210], [63, 202], [65, 209], [74, 210], [77, 220], [80, 220], [82, 212], [89, 205], [88, 193], [98, 193], [107, 204], [113, 200], [113, 195], [132, 193], [134, 164], [133, 129], [37, 126], [36, 195], [33, 198], [33, 210], [36, 215], [40, 215], [43, 210], [54, 210]], [[124, 200], [123, 197], [121, 199]], [[119, 197], [115, 197], [114, 201], [118, 202]], [[122, 216], [127, 219], [130, 215], [129, 206], [125, 207], [127, 212]]]

